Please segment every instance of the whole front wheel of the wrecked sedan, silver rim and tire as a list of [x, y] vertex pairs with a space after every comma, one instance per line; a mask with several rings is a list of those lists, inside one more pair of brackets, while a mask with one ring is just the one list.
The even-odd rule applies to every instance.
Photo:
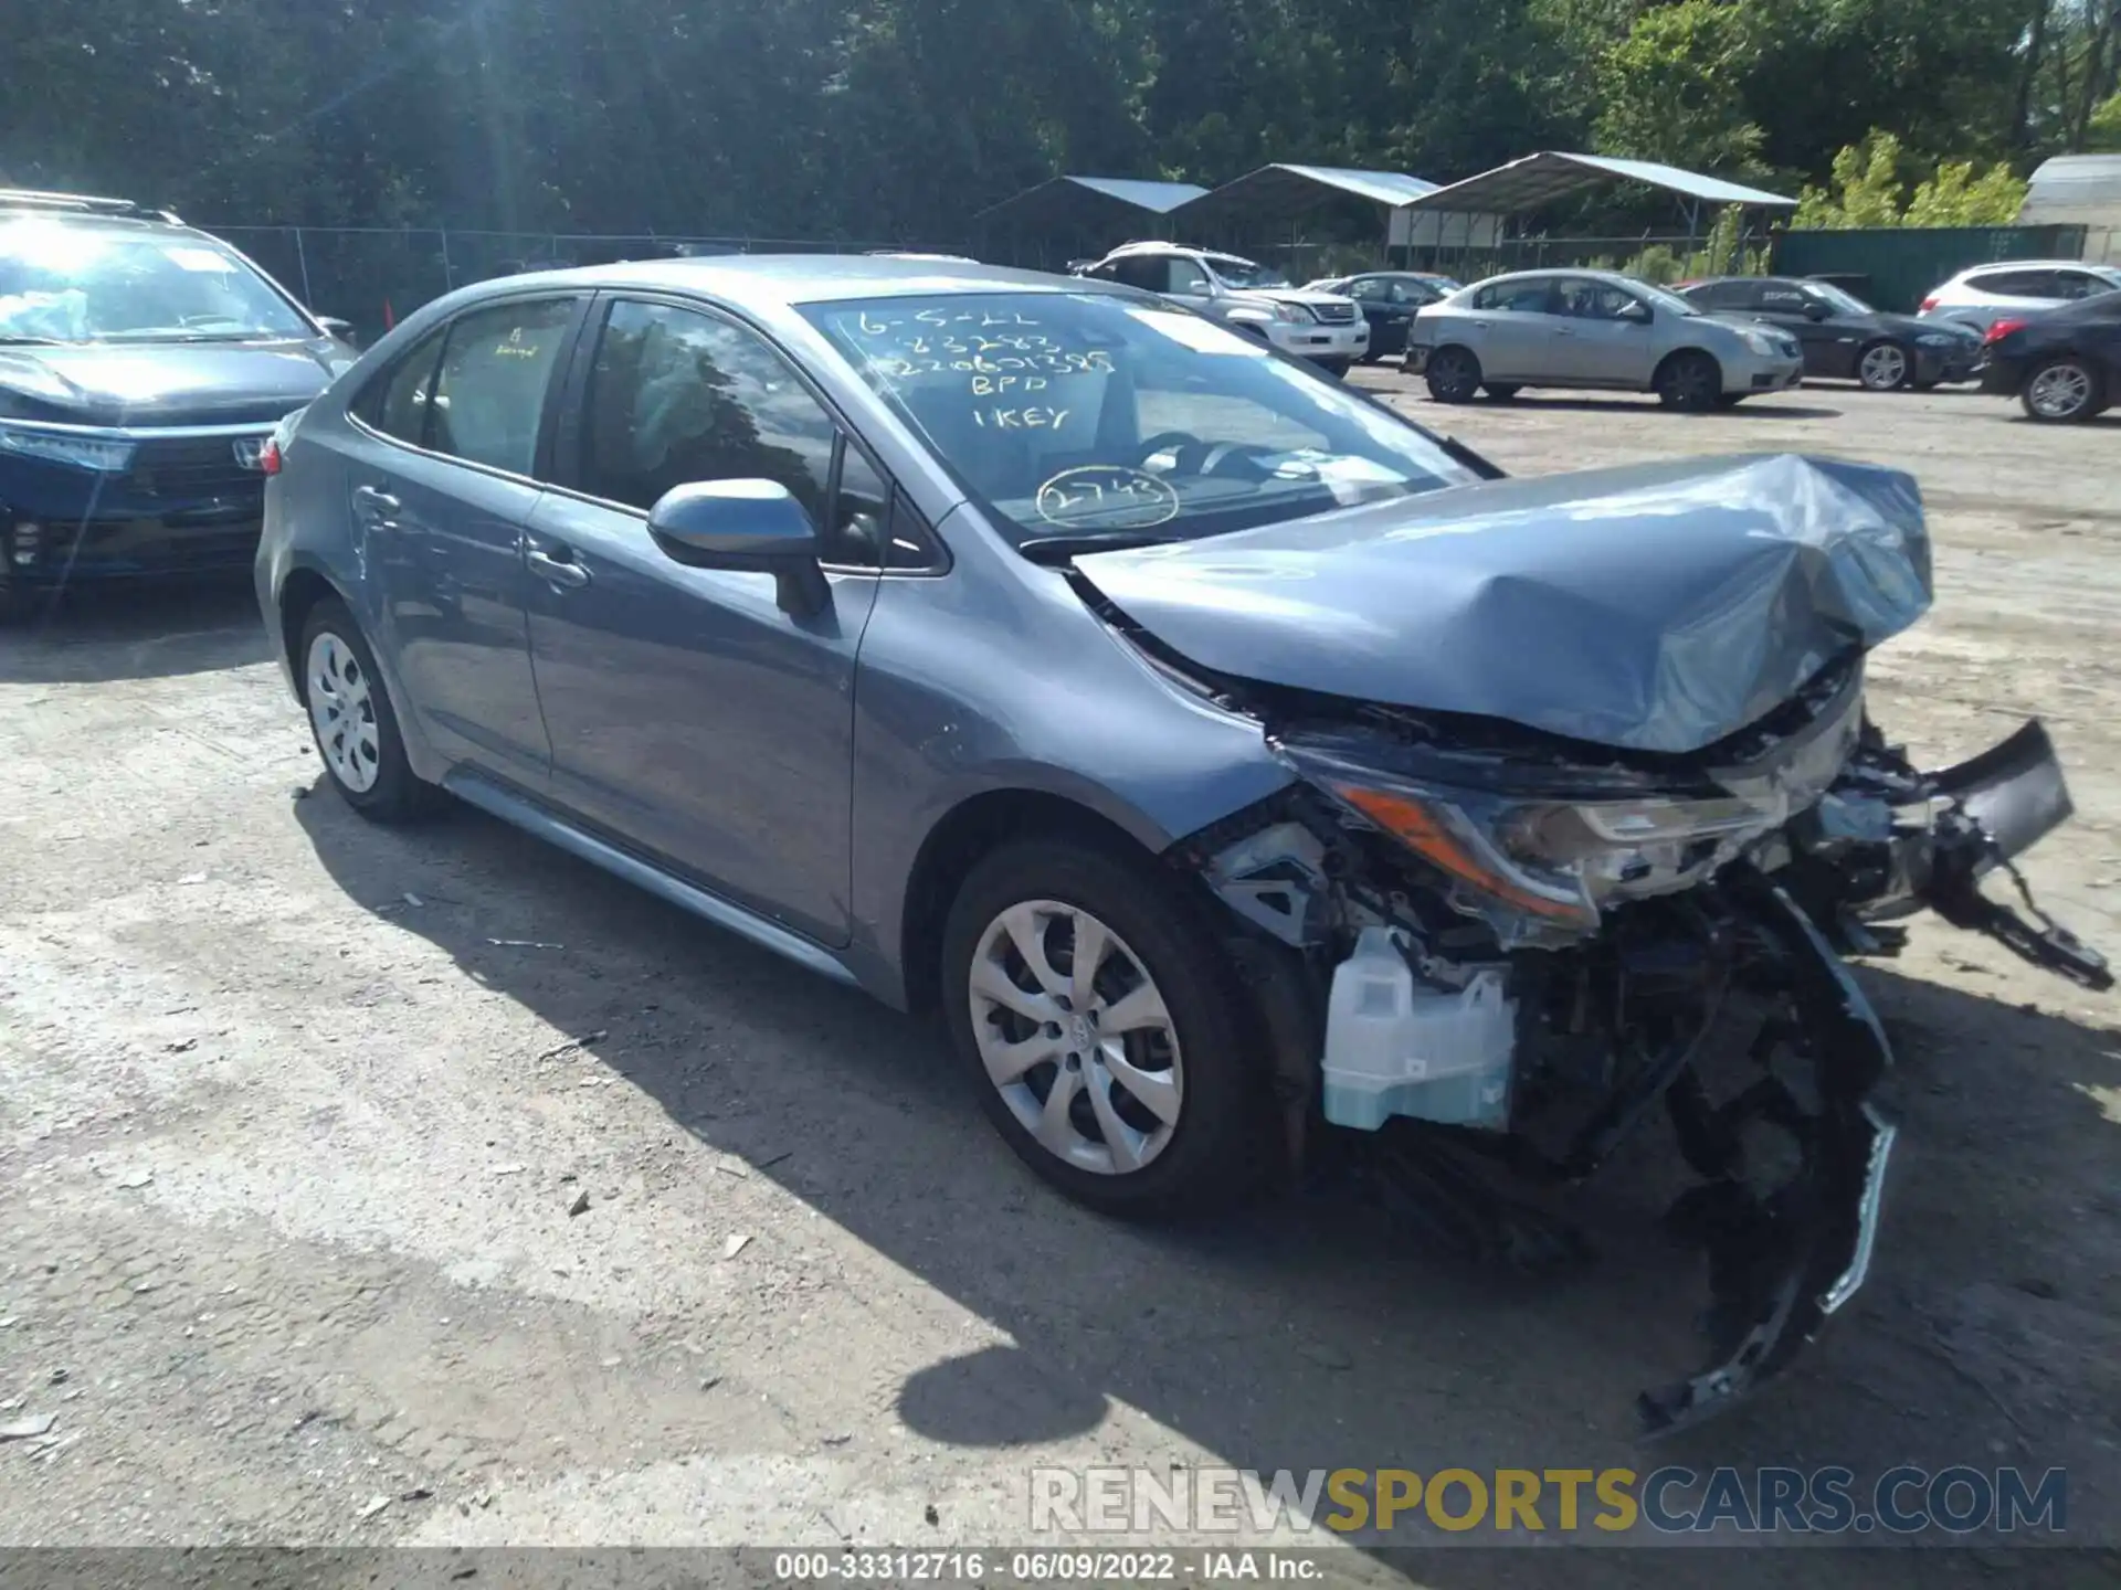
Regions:
[[950, 1037], [1022, 1160], [1109, 1215], [1211, 1211], [1270, 1164], [1270, 1088], [1211, 924], [1150, 859], [1031, 840], [944, 929]]

